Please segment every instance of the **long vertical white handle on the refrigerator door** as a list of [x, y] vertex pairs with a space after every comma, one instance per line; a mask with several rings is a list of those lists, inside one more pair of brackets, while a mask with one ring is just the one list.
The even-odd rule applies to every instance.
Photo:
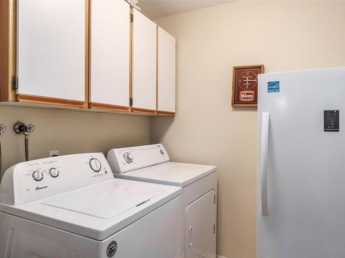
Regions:
[[262, 113], [261, 129], [261, 149], [260, 149], [260, 194], [261, 194], [261, 213], [268, 215], [267, 199], [267, 166], [268, 166], [268, 129], [270, 125], [270, 114]]

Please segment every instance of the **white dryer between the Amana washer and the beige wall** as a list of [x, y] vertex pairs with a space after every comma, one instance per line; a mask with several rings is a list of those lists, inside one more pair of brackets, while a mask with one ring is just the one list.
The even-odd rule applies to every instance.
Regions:
[[216, 257], [216, 166], [170, 162], [162, 144], [111, 149], [107, 159], [116, 178], [182, 187], [177, 253]]

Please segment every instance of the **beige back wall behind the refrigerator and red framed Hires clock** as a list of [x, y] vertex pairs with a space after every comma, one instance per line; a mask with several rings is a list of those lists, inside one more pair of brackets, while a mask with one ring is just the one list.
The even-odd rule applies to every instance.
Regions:
[[233, 65], [345, 65], [345, 2], [235, 1], [158, 20], [177, 39], [177, 116], [151, 119], [172, 160], [219, 168], [219, 255], [255, 257], [256, 109], [230, 106]]

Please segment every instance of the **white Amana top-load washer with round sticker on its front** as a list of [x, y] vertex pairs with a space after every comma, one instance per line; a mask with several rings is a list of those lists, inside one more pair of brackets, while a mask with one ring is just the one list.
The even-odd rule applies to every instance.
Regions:
[[174, 258], [180, 202], [114, 178], [101, 153], [22, 162], [0, 184], [0, 257]]

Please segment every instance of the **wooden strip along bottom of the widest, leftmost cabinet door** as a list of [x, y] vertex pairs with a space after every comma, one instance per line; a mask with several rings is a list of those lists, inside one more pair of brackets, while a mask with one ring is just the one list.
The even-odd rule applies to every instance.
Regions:
[[46, 96], [34, 96], [28, 94], [17, 94], [17, 101], [24, 103], [48, 104], [66, 107], [81, 107], [85, 108], [85, 101], [68, 100], [65, 98], [52, 98]]

